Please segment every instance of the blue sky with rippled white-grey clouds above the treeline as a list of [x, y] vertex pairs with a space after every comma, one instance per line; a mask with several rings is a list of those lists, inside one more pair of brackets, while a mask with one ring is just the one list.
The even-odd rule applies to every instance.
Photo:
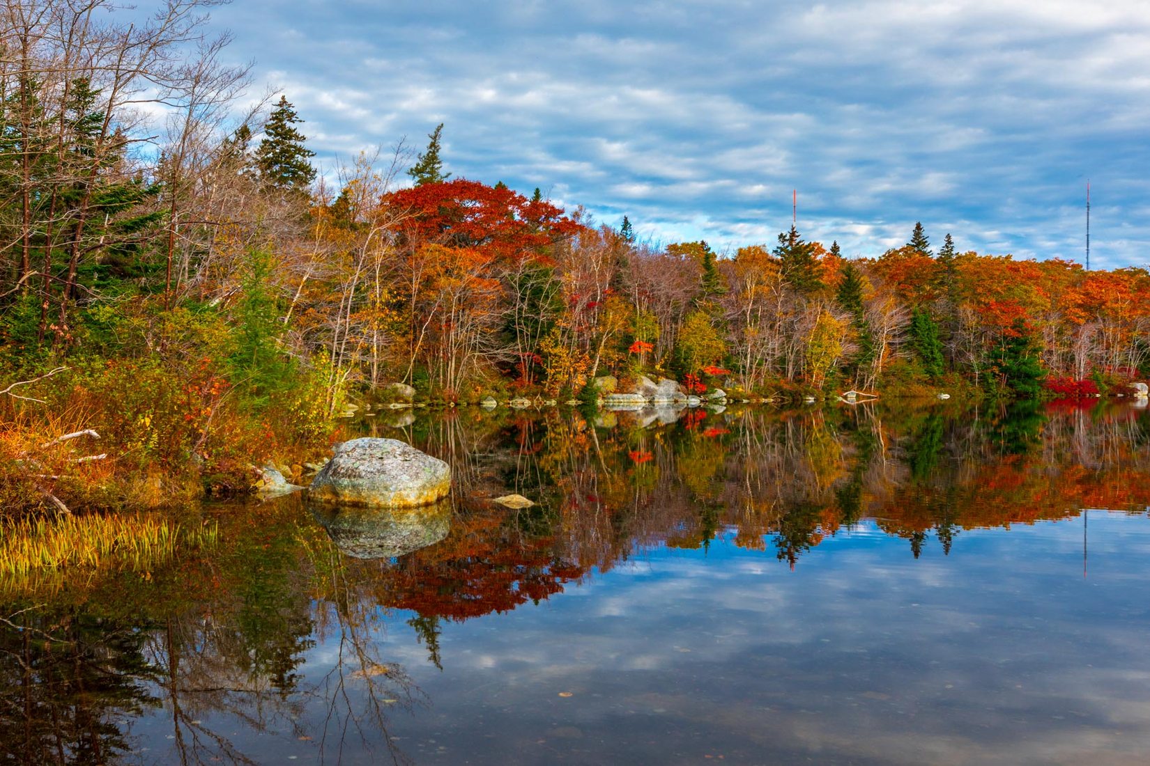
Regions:
[[453, 176], [656, 243], [1150, 264], [1150, 2], [236, 0], [323, 172], [444, 123]]

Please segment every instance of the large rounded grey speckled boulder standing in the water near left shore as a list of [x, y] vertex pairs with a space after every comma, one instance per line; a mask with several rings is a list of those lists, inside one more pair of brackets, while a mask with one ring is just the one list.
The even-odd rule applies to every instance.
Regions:
[[451, 490], [451, 467], [394, 439], [353, 439], [336, 446], [308, 488], [308, 498], [344, 505], [414, 508]]

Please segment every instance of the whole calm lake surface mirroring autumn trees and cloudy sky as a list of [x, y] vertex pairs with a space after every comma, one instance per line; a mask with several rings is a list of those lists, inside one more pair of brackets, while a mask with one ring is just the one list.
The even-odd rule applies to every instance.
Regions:
[[189, 509], [217, 550], [2, 583], [0, 752], [1147, 761], [1142, 410], [407, 419], [363, 428], [448, 459], [453, 503]]

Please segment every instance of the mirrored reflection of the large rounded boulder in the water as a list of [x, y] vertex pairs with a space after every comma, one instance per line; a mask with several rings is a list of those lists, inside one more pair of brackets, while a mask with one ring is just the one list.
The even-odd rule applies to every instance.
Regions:
[[340, 552], [353, 558], [392, 558], [447, 536], [451, 503], [422, 508], [354, 508], [312, 503], [308, 510]]

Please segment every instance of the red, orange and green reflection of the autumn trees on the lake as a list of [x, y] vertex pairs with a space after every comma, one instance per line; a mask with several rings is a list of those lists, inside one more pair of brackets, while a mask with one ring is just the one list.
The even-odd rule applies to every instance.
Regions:
[[[205, 505], [181, 511], [221, 525], [218, 548], [198, 558], [146, 575], [0, 583], [0, 753], [98, 764], [147, 746], [145, 759], [253, 763], [292, 746], [402, 763], [389, 718], [425, 699], [389, 657], [389, 626], [413, 628], [439, 666], [445, 624], [547, 599], [651, 546], [705, 548], [733, 532], [796, 567], [867, 518], [918, 557], [934, 544], [949, 554], [964, 529], [1150, 504], [1148, 419], [1130, 408], [613, 419], [455, 411], [405, 423], [408, 440], [452, 463], [451, 503], [314, 516], [298, 497]], [[507, 493], [537, 504], [486, 500]], [[237, 728], [273, 744], [245, 751]]]

